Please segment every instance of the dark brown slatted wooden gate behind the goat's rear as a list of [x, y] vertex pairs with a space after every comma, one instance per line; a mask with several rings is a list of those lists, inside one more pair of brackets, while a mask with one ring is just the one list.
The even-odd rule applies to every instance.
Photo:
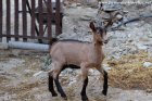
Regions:
[[[54, 1], [54, 0], [53, 0]], [[62, 33], [60, 0], [0, 0], [0, 41], [49, 40]], [[55, 5], [55, 7], [54, 7]]]

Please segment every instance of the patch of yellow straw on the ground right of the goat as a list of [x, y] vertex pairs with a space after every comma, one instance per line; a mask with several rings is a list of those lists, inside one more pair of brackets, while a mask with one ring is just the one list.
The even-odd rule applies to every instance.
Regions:
[[143, 67], [144, 62], [152, 62], [147, 52], [124, 55], [121, 60], [109, 60], [110, 84], [123, 89], [152, 89], [152, 67]]

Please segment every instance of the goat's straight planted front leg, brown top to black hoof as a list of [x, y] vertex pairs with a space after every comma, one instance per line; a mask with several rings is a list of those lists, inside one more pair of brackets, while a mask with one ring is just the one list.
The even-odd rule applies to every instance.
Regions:
[[83, 73], [83, 80], [84, 80], [83, 89], [81, 89], [81, 92], [80, 92], [81, 100], [83, 101], [89, 101], [88, 97], [86, 94], [86, 88], [88, 86], [88, 68], [86, 68], [85, 66], [81, 66], [81, 73]]

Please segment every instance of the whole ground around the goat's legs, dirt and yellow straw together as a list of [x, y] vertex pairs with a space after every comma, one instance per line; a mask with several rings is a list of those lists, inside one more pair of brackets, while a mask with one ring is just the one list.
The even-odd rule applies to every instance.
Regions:
[[[8, 53], [5, 53], [7, 55], [0, 56], [1, 62], [7, 63], [11, 59], [21, 59], [24, 60], [24, 62], [22, 65], [16, 65], [16, 67], [8, 72], [0, 71], [0, 100], [63, 101], [60, 94], [58, 98], [51, 97], [48, 90], [47, 78], [36, 79], [33, 76], [41, 70], [43, 63], [42, 56], [46, 56], [46, 54], [31, 53], [30, 55], [25, 55], [20, 53], [18, 56], [9, 56]], [[151, 90], [147, 89], [152, 88], [150, 85], [152, 83], [152, 70], [142, 67], [144, 61], [152, 62], [145, 52], [126, 55], [121, 60], [105, 60], [105, 63], [107, 62], [112, 66], [112, 70], [109, 72], [110, 89], [106, 101], [151, 101]], [[75, 78], [75, 81], [72, 83], [69, 78]], [[62, 75], [60, 76], [60, 80], [67, 94], [68, 101], [80, 101], [80, 90], [83, 86], [80, 74]], [[87, 94], [90, 101], [104, 101], [101, 93], [102, 84], [101, 75], [89, 76]], [[128, 90], [122, 90], [119, 88]], [[138, 89], [138, 93], [132, 89]], [[145, 89], [149, 92], [141, 91], [141, 89]], [[137, 97], [139, 97], [139, 100]]]

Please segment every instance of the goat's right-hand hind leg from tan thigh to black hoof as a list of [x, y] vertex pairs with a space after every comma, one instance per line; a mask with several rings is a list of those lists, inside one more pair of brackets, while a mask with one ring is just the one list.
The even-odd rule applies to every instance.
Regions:
[[54, 83], [55, 83], [56, 89], [60, 92], [61, 97], [64, 100], [67, 100], [67, 97], [66, 97], [65, 92], [63, 91], [63, 89], [62, 89], [62, 87], [60, 85], [60, 81], [59, 81], [59, 75], [61, 73], [61, 70], [62, 70], [62, 65], [55, 65], [55, 67], [53, 70], [53, 78], [54, 78]]

